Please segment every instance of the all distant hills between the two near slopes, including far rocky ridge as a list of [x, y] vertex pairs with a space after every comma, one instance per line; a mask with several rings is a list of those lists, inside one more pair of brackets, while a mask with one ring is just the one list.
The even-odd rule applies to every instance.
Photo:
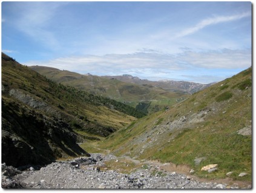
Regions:
[[30, 68], [58, 83], [120, 101], [146, 114], [165, 109], [176, 104], [177, 101], [184, 100], [191, 93], [211, 85], [176, 81], [165, 82], [162, 85], [162, 81], [140, 80], [131, 75], [100, 77], [47, 66], [30, 66]]

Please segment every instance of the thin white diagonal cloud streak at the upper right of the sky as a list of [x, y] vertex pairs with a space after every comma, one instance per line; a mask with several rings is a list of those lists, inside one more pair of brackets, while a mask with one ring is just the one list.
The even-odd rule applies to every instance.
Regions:
[[208, 25], [214, 25], [219, 24], [223, 22], [231, 22], [238, 19], [242, 19], [243, 17], [249, 17], [251, 16], [251, 12], [241, 13], [241, 14], [235, 14], [232, 16], [215, 16], [208, 19], [203, 19], [201, 22], [196, 24], [194, 27], [186, 28], [185, 30], [181, 31], [179, 34], [176, 35], [176, 37], [183, 37], [187, 36], [189, 34], [195, 33]]

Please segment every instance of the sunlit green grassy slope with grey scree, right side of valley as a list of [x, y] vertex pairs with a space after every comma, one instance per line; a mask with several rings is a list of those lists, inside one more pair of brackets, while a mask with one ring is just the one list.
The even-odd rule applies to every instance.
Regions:
[[[237, 134], [252, 121], [252, 69], [194, 93], [169, 110], [134, 121], [99, 145], [117, 155], [189, 165], [200, 177], [251, 180], [252, 136]], [[99, 146], [99, 147], [100, 147]], [[194, 159], [206, 157], [199, 165]], [[212, 173], [202, 166], [217, 163]], [[248, 176], [238, 177], [240, 172]]]

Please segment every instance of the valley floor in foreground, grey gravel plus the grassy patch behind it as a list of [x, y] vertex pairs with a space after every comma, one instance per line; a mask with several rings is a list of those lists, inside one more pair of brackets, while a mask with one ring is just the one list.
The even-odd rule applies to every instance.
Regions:
[[91, 157], [53, 162], [34, 170], [18, 171], [2, 164], [2, 188], [26, 189], [250, 189], [231, 179], [211, 182], [186, 175], [187, 166], [175, 166], [130, 157], [94, 153]]

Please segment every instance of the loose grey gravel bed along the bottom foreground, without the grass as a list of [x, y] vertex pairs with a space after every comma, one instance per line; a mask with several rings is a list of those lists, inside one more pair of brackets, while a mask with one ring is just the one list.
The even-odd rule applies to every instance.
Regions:
[[[19, 171], [2, 164], [2, 188], [27, 189], [225, 189], [225, 184], [202, 183], [185, 174], [166, 172], [147, 165], [131, 174], [102, 170], [104, 162], [116, 159], [108, 154], [92, 154], [73, 160], [54, 162], [34, 170]], [[237, 187], [234, 187], [237, 188]]]

